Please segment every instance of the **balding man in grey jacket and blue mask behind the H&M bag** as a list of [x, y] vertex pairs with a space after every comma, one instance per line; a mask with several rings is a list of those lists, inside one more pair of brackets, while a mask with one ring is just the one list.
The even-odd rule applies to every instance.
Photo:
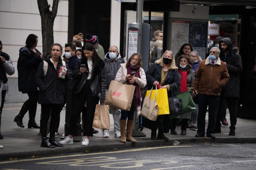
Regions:
[[[105, 59], [103, 60], [105, 63], [105, 73], [106, 73], [106, 93], [108, 92], [109, 84], [111, 80], [115, 80], [117, 71], [121, 67], [121, 63], [124, 63], [124, 59], [121, 58], [120, 53], [118, 52], [118, 47], [115, 45], [112, 45], [108, 49], [108, 53], [105, 55]], [[117, 109], [114, 110], [111, 108], [111, 113], [113, 114], [114, 119], [114, 137], [119, 138], [120, 133], [120, 124], [119, 120], [121, 118], [121, 110]], [[102, 130], [103, 135], [102, 137], [109, 137], [109, 130]]]

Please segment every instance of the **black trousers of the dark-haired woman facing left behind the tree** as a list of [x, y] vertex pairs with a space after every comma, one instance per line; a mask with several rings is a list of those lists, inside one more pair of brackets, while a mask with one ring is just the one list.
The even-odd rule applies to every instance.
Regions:
[[29, 99], [22, 105], [19, 114], [24, 116], [28, 111], [29, 121], [34, 121], [36, 117], [38, 91], [30, 91], [27, 94]]

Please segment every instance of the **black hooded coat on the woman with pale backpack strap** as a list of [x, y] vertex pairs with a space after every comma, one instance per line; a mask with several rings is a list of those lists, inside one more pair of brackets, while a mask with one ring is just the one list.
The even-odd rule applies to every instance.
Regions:
[[69, 81], [68, 74], [65, 79], [58, 77], [62, 59], [59, 57], [57, 69], [50, 60], [50, 56], [44, 57], [48, 62], [46, 75], [44, 75], [44, 62], [41, 62], [35, 76], [35, 82], [39, 88], [38, 103], [39, 104], [64, 104], [65, 87], [64, 84]]

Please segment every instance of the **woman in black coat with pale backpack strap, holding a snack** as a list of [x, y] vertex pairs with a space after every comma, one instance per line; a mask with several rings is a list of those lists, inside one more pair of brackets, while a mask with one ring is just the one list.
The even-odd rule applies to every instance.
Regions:
[[[42, 118], [40, 120], [40, 130], [42, 135], [41, 147], [54, 148], [55, 146], [62, 147], [54, 136], [55, 129], [58, 123], [59, 113], [63, 107], [65, 82], [69, 81], [67, 71], [63, 74], [65, 78], [59, 77], [59, 72], [62, 70], [63, 62], [61, 59], [62, 46], [54, 43], [51, 47], [51, 55], [44, 58], [37, 70], [35, 81], [39, 88], [38, 103], [41, 104]], [[48, 66], [47, 66], [48, 63]], [[46, 72], [45, 72], [45, 67]], [[64, 66], [65, 67], [65, 66]], [[61, 74], [61, 73], [60, 73]], [[47, 141], [47, 123], [51, 113], [50, 123], [50, 138]]]

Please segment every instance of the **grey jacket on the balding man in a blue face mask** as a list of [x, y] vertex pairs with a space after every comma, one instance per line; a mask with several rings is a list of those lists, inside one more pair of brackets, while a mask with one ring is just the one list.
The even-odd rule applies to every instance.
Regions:
[[106, 72], [106, 89], [109, 88], [109, 84], [111, 80], [115, 80], [117, 71], [121, 67], [121, 64], [124, 63], [124, 59], [121, 58], [120, 53], [117, 56], [115, 61], [109, 58], [109, 52], [105, 55], [105, 59], [103, 60], [105, 63], [105, 72]]

